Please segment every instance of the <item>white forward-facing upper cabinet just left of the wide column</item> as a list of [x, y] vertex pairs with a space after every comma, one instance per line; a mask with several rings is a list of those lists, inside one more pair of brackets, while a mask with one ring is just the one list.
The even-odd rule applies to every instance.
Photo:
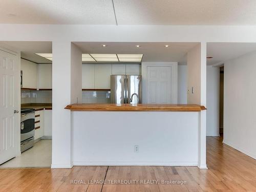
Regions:
[[38, 88], [52, 89], [52, 65], [38, 64]]

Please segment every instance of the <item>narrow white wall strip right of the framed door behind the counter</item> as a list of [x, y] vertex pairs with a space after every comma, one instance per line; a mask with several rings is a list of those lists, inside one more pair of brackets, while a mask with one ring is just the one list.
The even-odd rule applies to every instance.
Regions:
[[187, 66], [178, 66], [178, 104], [187, 104]]

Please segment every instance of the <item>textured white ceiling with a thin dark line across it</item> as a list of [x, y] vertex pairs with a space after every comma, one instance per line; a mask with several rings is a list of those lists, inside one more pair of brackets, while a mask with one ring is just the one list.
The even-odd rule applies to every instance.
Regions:
[[0, 23], [256, 25], [255, 7], [255, 0], [2, 0]]

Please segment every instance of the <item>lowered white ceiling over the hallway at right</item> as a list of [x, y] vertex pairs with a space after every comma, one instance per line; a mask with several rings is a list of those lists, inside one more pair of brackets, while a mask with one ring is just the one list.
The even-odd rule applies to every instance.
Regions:
[[208, 42], [207, 43], [207, 65], [237, 58], [244, 54], [256, 51], [256, 43], [251, 42]]

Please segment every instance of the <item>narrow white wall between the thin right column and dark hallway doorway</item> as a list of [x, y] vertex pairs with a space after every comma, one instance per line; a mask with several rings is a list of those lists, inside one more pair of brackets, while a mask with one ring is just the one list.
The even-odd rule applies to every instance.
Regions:
[[207, 66], [206, 136], [219, 136], [220, 68]]

